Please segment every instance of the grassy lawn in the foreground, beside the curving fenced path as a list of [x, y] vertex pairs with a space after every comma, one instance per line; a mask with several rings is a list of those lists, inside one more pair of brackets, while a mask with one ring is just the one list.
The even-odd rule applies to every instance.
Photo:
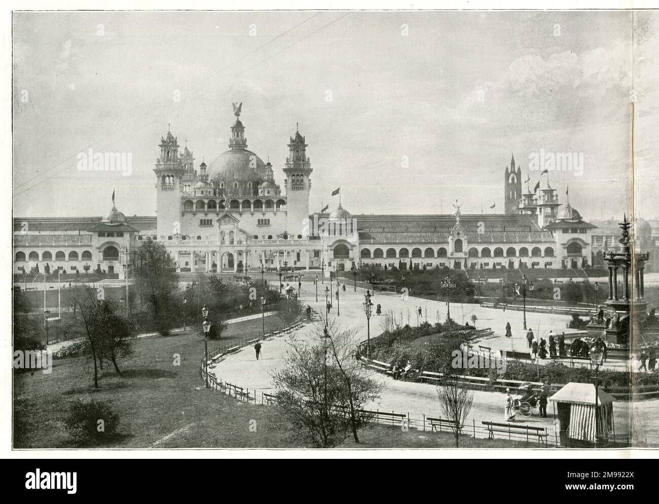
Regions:
[[[278, 320], [270, 318], [275, 325]], [[220, 344], [260, 331], [260, 320], [231, 324]], [[267, 327], [266, 327], [267, 329]], [[217, 346], [216, 342], [209, 347]], [[105, 367], [94, 389], [92, 368], [84, 358], [55, 360], [51, 374], [14, 374], [14, 448], [71, 448], [64, 420], [69, 403], [91, 397], [109, 403], [120, 415], [119, 435], [105, 448], [302, 447], [278, 408], [247, 404], [214, 389], [199, 375], [203, 340], [194, 331], [136, 340], [134, 358], [121, 365], [123, 377]], [[175, 354], [181, 365], [175, 366]], [[250, 428], [250, 426], [252, 428]], [[254, 429], [256, 427], [256, 429]], [[362, 448], [452, 447], [449, 434], [368, 426], [360, 431]], [[465, 437], [464, 447], [512, 447], [505, 440]], [[357, 447], [351, 438], [342, 447]]]

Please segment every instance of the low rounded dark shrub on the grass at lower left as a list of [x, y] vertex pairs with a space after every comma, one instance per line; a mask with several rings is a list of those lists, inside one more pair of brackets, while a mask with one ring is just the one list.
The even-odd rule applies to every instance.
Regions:
[[69, 407], [65, 420], [69, 434], [79, 441], [107, 442], [117, 432], [119, 414], [103, 401], [91, 399], [88, 402], [77, 399]]

